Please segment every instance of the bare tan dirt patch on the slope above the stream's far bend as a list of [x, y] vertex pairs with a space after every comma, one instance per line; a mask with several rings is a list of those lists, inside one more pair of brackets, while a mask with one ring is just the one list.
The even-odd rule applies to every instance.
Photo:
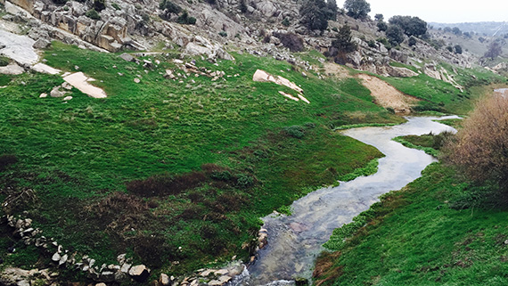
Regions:
[[418, 99], [401, 93], [380, 78], [365, 74], [358, 74], [357, 77], [362, 79], [362, 84], [371, 91], [375, 102], [382, 107], [392, 108], [397, 113], [410, 113], [411, 106], [419, 102]]

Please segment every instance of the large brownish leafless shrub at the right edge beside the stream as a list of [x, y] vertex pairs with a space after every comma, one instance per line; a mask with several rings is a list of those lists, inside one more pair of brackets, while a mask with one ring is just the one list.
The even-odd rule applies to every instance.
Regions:
[[492, 180], [508, 192], [508, 99], [492, 95], [478, 102], [445, 154], [472, 180]]

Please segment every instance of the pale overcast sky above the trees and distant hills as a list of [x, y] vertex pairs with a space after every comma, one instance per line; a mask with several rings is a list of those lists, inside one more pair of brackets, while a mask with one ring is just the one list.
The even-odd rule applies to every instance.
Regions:
[[[367, 0], [370, 15], [381, 13], [385, 20], [393, 15], [417, 16], [427, 22], [461, 23], [508, 21], [508, 0]], [[337, 0], [342, 8], [344, 0]]]

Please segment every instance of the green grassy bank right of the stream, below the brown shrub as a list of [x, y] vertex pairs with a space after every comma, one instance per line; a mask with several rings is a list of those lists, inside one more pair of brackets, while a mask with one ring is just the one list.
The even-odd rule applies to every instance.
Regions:
[[485, 195], [483, 189], [463, 183], [451, 168], [430, 165], [360, 215], [359, 227], [341, 232], [347, 240], [318, 259], [315, 284], [506, 284], [506, 212], [464, 199]]

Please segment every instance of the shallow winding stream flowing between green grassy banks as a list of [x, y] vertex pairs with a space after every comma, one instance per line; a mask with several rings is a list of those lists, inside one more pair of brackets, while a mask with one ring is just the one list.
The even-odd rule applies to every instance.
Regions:
[[289, 285], [295, 278], [310, 279], [315, 257], [323, 250], [333, 229], [348, 224], [368, 209], [378, 197], [399, 190], [421, 176], [436, 161], [423, 151], [409, 149], [391, 139], [401, 135], [434, 134], [455, 131], [434, 122], [448, 117], [408, 117], [395, 127], [362, 127], [341, 132], [373, 145], [386, 156], [379, 160], [379, 170], [372, 176], [358, 177], [311, 192], [293, 202], [291, 216], [263, 217], [268, 244], [258, 251], [258, 260], [249, 267], [236, 285]]

